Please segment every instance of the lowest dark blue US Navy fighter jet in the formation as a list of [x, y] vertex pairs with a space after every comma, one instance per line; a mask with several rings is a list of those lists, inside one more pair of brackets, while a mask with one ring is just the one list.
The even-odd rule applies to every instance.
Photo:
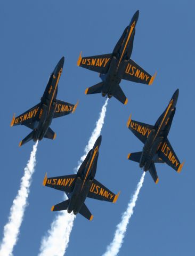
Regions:
[[99, 181], [95, 180], [97, 159], [102, 137], [95, 141], [93, 148], [88, 152], [84, 162], [80, 165], [77, 174], [47, 178], [43, 180], [43, 185], [64, 191], [68, 198], [59, 204], [52, 206], [52, 211], [67, 210], [74, 214], [80, 213], [88, 220], [93, 219], [93, 215], [85, 205], [86, 197], [115, 203], [119, 193], [115, 195]]

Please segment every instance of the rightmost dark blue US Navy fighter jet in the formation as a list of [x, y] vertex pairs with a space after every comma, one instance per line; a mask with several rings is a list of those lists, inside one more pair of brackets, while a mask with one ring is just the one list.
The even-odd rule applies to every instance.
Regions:
[[134, 121], [131, 119], [131, 115], [127, 122], [128, 129], [144, 143], [141, 152], [128, 154], [127, 158], [139, 163], [144, 172], [149, 171], [155, 183], [159, 181], [155, 163], [166, 163], [177, 172], [181, 172], [184, 164], [180, 163], [167, 139], [175, 115], [178, 92], [177, 89], [155, 125]]

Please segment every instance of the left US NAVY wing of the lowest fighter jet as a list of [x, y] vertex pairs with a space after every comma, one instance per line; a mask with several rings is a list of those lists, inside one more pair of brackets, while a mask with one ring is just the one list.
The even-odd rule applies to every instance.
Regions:
[[76, 178], [77, 178], [76, 174], [59, 176], [59, 177], [51, 177], [51, 178], [47, 178], [47, 174], [45, 174], [43, 185], [50, 188], [64, 191], [66, 193], [71, 193], [74, 188]]

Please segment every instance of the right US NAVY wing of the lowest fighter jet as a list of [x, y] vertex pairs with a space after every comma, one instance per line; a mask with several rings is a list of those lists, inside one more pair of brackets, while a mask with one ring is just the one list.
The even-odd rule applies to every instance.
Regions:
[[120, 192], [117, 195], [115, 195], [108, 188], [104, 187], [99, 181], [93, 179], [93, 182], [87, 197], [97, 199], [97, 200], [108, 201], [111, 203], [116, 203], [119, 194]]

